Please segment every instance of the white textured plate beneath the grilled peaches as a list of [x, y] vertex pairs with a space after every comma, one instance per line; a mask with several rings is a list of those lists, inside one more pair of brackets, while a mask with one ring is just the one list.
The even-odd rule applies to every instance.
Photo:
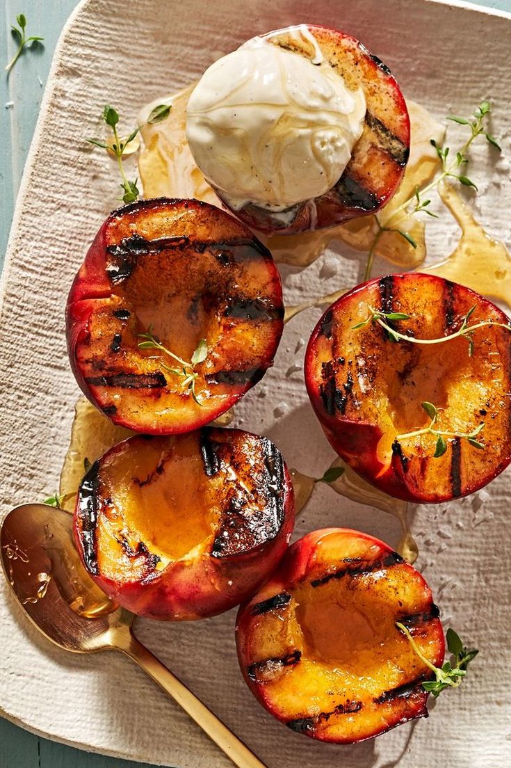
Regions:
[[[64, 304], [74, 272], [107, 211], [117, 177], [110, 160], [84, 144], [102, 105], [118, 106], [126, 127], [142, 104], [196, 78], [218, 51], [259, 31], [299, 22], [351, 32], [389, 64], [409, 98], [437, 118], [469, 114], [483, 98], [495, 105], [493, 133], [509, 157], [511, 16], [428, 0], [85, 0], [55, 54], [38, 130], [18, 198], [4, 273], [0, 326], [2, 511], [53, 492], [68, 442], [77, 387], [68, 367]], [[494, 157], [493, 157], [494, 161]], [[490, 168], [486, 144], [471, 176], [480, 181], [476, 211], [509, 242], [509, 161]], [[485, 180], [486, 179], [486, 180]], [[431, 227], [436, 260], [455, 242], [445, 214]], [[358, 282], [352, 255], [321, 271], [285, 270], [288, 300]], [[332, 263], [338, 264], [337, 274]], [[387, 269], [380, 265], [381, 270]], [[335, 273], [335, 269], [334, 269]], [[328, 277], [326, 276], [328, 275]], [[243, 400], [238, 423], [264, 432], [289, 465], [321, 473], [331, 459], [306, 402], [302, 373], [285, 376], [318, 310], [285, 329], [275, 369]], [[265, 396], [264, 396], [265, 395]], [[300, 737], [272, 720], [239, 674], [235, 614], [193, 624], [140, 621], [137, 634], [270, 768], [503, 768], [509, 765], [509, 479], [490, 497], [421, 507], [414, 516], [426, 571], [447, 621], [480, 647], [462, 690], [447, 692], [429, 720], [405, 725], [359, 746], [335, 747]], [[298, 518], [298, 533], [350, 525], [395, 545], [397, 521], [318, 488]], [[31, 730], [88, 749], [164, 765], [230, 766], [150, 680], [120, 655], [77, 657], [31, 628], [2, 581], [0, 707]]]

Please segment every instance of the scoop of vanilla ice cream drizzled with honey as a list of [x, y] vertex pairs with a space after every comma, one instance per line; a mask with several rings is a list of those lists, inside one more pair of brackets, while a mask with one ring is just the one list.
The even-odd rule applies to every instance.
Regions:
[[186, 137], [196, 164], [232, 207], [283, 210], [334, 186], [365, 111], [364, 91], [350, 91], [328, 61], [316, 64], [253, 38], [200, 78]]

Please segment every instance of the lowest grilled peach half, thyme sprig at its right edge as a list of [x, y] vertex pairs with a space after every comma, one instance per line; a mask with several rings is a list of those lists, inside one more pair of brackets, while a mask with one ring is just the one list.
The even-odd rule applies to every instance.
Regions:
[[383, 541], [325, 528], [296, 541], [239, 610], [246, 683], [282, 723], [354, 743], [427, 717], [424, 657], [443, 661], [443, 631], [424, 578]]

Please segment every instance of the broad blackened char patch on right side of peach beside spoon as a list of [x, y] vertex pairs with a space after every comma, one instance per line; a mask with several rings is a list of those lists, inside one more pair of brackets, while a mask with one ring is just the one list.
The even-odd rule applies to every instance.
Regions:
[[[238, 472], [236, 464], [233, 466]], [[284, 463], [279, 450], [269, 440], [261, 439], [255, 464], [242, 466], [241, 470], [245, 475], [251, 472], [253, 489], [247, 492], [236, 480], [228, 482], [223, 516], [211, 548], [213, 558], [252, 551], [272, 541], [282, 527]]]

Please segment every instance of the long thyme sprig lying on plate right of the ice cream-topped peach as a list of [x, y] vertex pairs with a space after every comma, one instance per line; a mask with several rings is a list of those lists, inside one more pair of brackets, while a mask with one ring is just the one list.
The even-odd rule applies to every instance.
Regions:
[[[480, 136], [484, 136], [489, 144], [491, 144], [493, 147], [496, 147], [498, 151], [501, 151], [501, 147], [499, 142], [496, 140], [496, 137], [488, 133], [486, 130], [485, 119], [490, 114], [490, 112], [490, 101], [482, 101], [479, 107], [476, 108], [476, 111], [474, 111], [473, 115], [470, 116], [470, 118], [459, 118], [457, 115], [450, 115], [447, 118], [447, 120], [470, 127], [470, 136], [466, 139], [463, 146], [456, 151], [456, 153], [451, 152], [450, 147], [441, 147], [440, 144], [438, 144], [434, 139], [430, 140], [430, 144], [435, 148], [437, 156], [440, 160], [440, 174], [434, 177], [434, 179], [431, 180], [430, 183], [425, 187], [422, 187], [421, 189], [420, 187], [415, 187], [414, 194], [408, 197], [407, 200], [404, 200], [404, 202], [399, 207], [397, 207], [396, 210], [394, 210], [394, 213], [391, 214], [391, 217], [389, 217], [384, 224], [381, 223], [381, 220], [377, 216], [374, 217], [374, 220], [377, 224], [377, 232], [374, 235], [373, 242], [371, 243], [371, 247], [368, 251], [364, 280], [369, 280], [369, 277], [371, 276], [371, 270], [374, 262], [374, 253], [377, 244], [379, 243], [384, 232], [396, 232], [397, 234], [401, 235], [404, 240], [407, 240], [412, 248], [417, 248], [417, 243], [415, 242], [414, 238], [404, 230], [401, 230], [399, 227], [397, 227], [397, 221], [400, 220], [403, 216], [410, 217], [414, 214], [427, 214], [428, 216], [437, 218], [437, 214], [434, 214], [429, 210], [431, 200], [429, 197], [427, 197], [427, 195], [431, 190], [437, 189], [440, 182], [450, 177], [457, 179], [459, 183], [464, 187], [472, 187], [474, 190], [477, 190], [477, 186], [474, 184], [473, 180], [466, 176], [466, 174], [460, 173], [460, 170], [462, 166], [466, 166], [466, 164], [468, 164], [468, 151], [470, 150], [470, 146], [473, 144], [473, 141], [476, 141], [476, 138]], [[447, 157], [452, 157], [452, 162], [448, 162]]]

